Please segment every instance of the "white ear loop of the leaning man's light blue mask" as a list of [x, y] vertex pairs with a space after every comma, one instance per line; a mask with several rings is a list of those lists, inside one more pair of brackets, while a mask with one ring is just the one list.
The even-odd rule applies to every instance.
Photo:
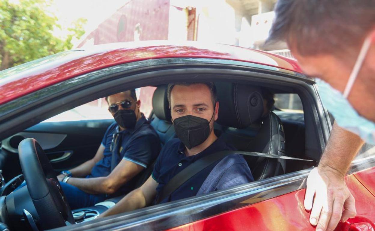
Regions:
[[363, 42], [356, 64], [354, 64], [353, 71], [351, 72], [347, 86], [345, 87], [344, 94], [343, 94], [344, 98], [348, 98], [351, 88], [353, 87], [354, 81], [356, 80], [358, 76], [358, 73], [362, 67], [363, 61], [366, 58], [367, 52], [369, 51], [370, 45], [373, 40], [375, 40], [375, 32], [373, 32], [369, 37], [366, 38], [365, 42]]

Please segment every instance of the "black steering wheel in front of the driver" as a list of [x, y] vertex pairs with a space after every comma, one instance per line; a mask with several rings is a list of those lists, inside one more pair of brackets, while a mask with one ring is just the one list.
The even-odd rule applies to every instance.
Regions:
[[42, 228], [75, 224], [65, 194], [39, 143], [32, 138], [24, 139], [18, 146], [18, 153], [27, 189]]

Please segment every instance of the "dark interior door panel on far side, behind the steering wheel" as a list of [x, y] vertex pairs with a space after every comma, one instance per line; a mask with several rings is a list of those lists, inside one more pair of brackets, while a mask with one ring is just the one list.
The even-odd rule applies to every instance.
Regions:
[[40, 143], [58, 173], [93, 158], [113, 122], [113, 119], [43, 122], [3, 140], [0, 167], [4, 177], [9, 180], [21, 174], [18, 144], [24, 138], [34, 138]]

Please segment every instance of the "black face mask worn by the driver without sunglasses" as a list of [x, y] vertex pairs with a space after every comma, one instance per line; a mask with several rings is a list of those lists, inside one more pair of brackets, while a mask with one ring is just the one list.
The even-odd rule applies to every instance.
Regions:
[[186, 146], [187, 149], [194, 148], [210, 135], [210, 121], [197, 116], [182, 116], [173, 121], [174, 130], [177, 137]]

